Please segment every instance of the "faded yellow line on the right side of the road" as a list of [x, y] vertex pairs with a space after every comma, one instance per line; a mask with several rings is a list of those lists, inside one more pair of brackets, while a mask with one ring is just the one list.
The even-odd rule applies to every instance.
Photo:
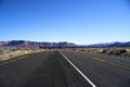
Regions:
[[106, 64], [110, 64], [110, 65], [113, 65], [113, 66], [118, 66], [118, 67], [121, 67], [121, 69], [130, 70], [129, 66], [123, 66], [123, 65], [120, 65], [120, 64], [117, 64], [117, 63], [114, 63], [114, 62], [105, 61], [105, 60], [103, 60], [103, 59], [98, 59], [98, 58], [91, 58], [91, 59], [93, 59], [93, 60], [95, 60], [95, 61], [99, 61], [99, 62], [106, 63]]

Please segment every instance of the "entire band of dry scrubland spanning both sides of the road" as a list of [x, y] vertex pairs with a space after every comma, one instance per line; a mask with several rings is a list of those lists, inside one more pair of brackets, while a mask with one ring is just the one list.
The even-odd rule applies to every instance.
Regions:
[[1, 47], [0, 48], [0, 62], [15, 57], [36, 53], [41, 51], [49, 51], [55, 49], [64, 49], [69, 51], [80, 51], [88, 53], [102, 53], [118, 57], [130, 58], [130, 48], [52, 48], [52, 47], [38, 47], [38, 48], [23, 48], [23, 47]]

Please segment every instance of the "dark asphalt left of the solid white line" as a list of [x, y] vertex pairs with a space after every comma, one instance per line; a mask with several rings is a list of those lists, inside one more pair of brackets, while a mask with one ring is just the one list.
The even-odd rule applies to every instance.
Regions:
[[58, 51], [48, 51], [1, 65], [0, 87], [91, 87], [91, 85]]

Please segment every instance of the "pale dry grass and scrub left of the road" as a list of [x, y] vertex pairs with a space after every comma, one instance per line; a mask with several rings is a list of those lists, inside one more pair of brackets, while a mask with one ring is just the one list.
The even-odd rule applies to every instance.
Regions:
[[35, 52], [41, 52], [41, 48], [22, 48], [22, 47], [1, 47], [0, 48], [0, 62], [15, 57], [25, 55]]

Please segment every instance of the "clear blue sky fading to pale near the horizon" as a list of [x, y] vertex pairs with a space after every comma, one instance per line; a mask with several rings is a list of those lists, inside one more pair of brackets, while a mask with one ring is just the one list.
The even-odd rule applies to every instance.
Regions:
[[129, 41], [128, 0], [0, 0], [0, 40]]

